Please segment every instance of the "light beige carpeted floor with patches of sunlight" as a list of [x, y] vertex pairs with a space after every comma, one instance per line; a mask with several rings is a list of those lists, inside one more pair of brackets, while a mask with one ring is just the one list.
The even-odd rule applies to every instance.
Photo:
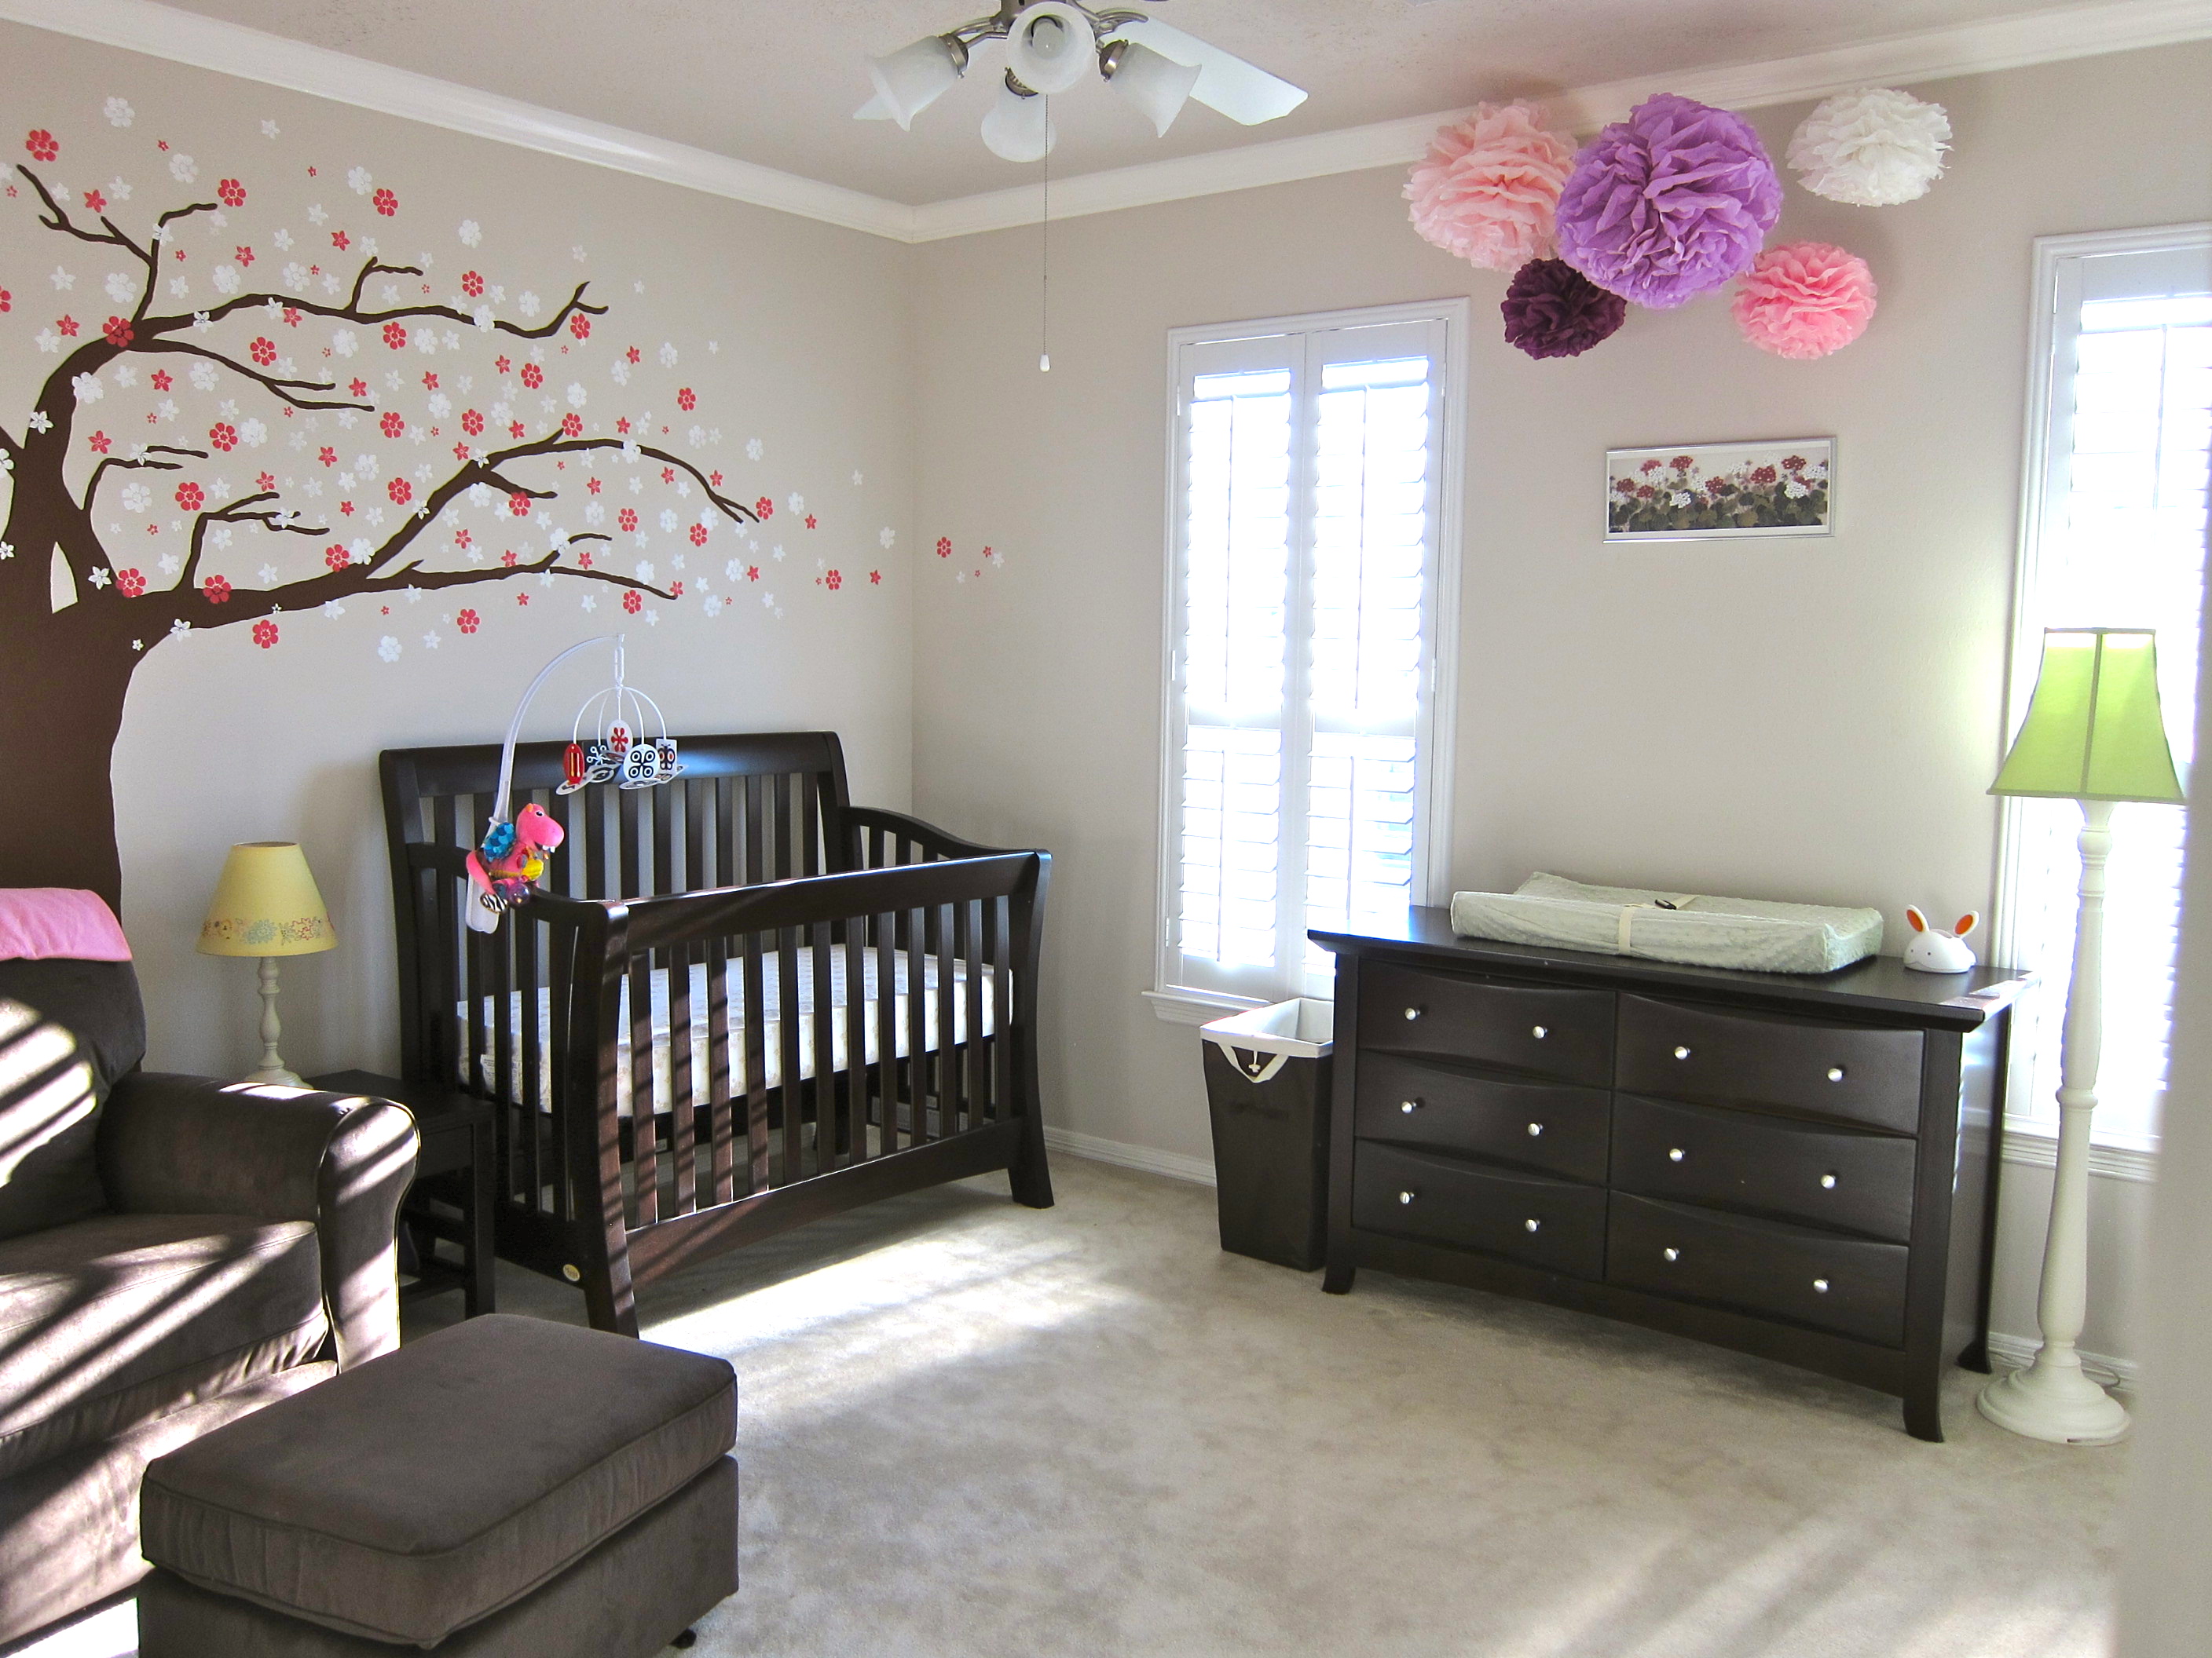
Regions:
[[[648, 1293], [741, 1379], [745, 1658], [2090, 1658], [2124, 1450], [1666, 1335], [1217, 1247], [1062, 1156]], [[502, 1311], [582, 1318], [502, 1269]], [[458, 1313], [420, 1307], [418, 1329]]]

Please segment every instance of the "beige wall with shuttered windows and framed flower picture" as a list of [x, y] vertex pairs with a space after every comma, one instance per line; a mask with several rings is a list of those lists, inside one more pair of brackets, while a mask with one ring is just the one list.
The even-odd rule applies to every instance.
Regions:
[[[1079, 1134], [1208, 1154], [1197, 1041], [1139, 999], [1157, 878], [1166, 332], [1473, 294], [1451, 878], [1531, 869], [1652, 886], [1989, 909], [2037, 234], [2212, 214], [2212, 49], [1918, 88], [1951, 175], [1854, 210], [1792, 188], [1778, 237], [1840, 241], [1882, 285], [1823, 363], [1743, 345], [1717, 301], [1637, 312], [1531, 363], [1502, 279], [1413, 237], [1400, 172], [1053, 228], [918, 267], [918, 533], [1020, 548], [920, 581], [916, 805], [1055, 851], [1046, 1101]], [[1801, 108], [1759, 113], [1781, 150]], [[1834, 436], [1827, 542], [1608, 548], [1608, 447]], [[1896, 944], [1891, 944], [1896, 948]], [[2148, 1187], [2099, 1180], [2090, 1351], [2128, 1355]], [[2048, 1176], [2013, 1167], [1997, 1324], [2033, 1335]]]

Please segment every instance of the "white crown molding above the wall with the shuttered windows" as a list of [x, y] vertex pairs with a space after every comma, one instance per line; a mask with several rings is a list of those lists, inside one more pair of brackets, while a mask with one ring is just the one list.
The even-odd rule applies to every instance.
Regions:
[[[2212, 38], [2212, 0], [2099, 0], [2097, 4], [1989, 18], [1949, 29], [1922, 29], [1763, 64], [1639, 75], [1546, 95], [1544, 104], [1553, 119], [1568, 130], [1595, 133], [1606, 122], [1626, 117], [1652, 93], [1681, 93], [1723, 108], [1763, 108], [1827, 97], [1854, 86], [1986, 75], [1997, 69], [2026, 69], [2068, 57], [2099, 57], [2208, 38]], [[1053, 179], [1053, 219], [1188, 201], [1223, 190], [1296, 183], [1334, 172], [1411, 166], [1427, 153], [1436, 128], [1458, 122], [1467, 113], [1467, 108], [1451, 108], [1433, 115], [1409, 115], [1374, 126], [1347, 126], [1336, 133]], [[1018, 186], [914, 208], [909, 239], [973, 237], [1035, 221], [1037, 190]]]

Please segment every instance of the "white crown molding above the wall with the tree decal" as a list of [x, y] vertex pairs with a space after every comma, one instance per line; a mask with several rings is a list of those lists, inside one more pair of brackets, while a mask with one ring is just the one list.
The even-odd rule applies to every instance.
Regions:
[[495, 144], [542, 150], [571, 161], [635, 172], [754, 208], [818, 219], [872, 237], [911, 241], [914, 208], [801, 179], [690, 144], [630, 133], [580, 115], [500, 97], [476, 86], [418, 75], [327, 46], [310, 46], [261, 29], [177, 11], [155, 0], [0, 0], [0, 18], [51, 29], [104, 46], [164, 57], [173, 64], [312, 93], [336, 104], [442, 126]]

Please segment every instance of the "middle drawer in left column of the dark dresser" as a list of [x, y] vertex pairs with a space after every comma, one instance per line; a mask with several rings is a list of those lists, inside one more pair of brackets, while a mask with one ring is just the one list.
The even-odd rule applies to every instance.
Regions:
[[1502, 1083], [1396, 1054], [1360, 1054], [1358, 1134], [1436, 1145], [1604, 1185], [1613, 1096], [1599, 1088]]

